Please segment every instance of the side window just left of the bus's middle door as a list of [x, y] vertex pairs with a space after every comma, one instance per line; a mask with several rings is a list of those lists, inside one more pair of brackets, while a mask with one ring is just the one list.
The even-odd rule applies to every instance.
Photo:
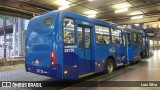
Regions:
[[122, 43], [121, 30], [111, 29], [111, 32], [112, 32], [112, 43], [121, 44]]

